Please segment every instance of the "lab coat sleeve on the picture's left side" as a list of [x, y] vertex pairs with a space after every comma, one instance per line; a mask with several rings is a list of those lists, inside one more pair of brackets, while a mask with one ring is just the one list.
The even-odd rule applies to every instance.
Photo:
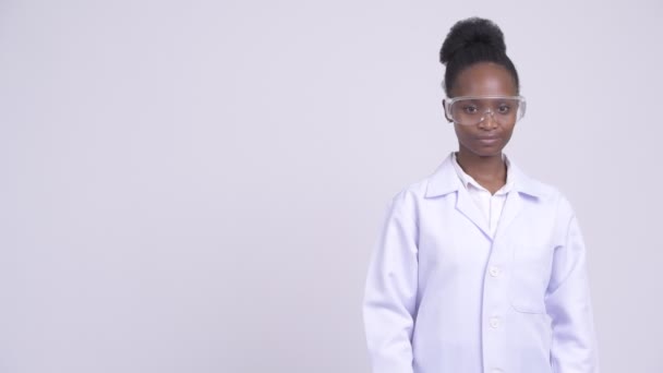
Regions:
[[363, 316], [374, 373], [412, 373], [418, 287], [417, 224], [391, 202], [366, 278]]

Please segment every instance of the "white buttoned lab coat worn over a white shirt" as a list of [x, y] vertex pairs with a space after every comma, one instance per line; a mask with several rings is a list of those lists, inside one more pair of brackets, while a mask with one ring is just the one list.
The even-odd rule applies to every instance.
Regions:
[[586, 250], [566, 198], [510, 163], [494, 239], [450, 156], [391, 201], [363, 314], [374, 373], [596, 373]]

